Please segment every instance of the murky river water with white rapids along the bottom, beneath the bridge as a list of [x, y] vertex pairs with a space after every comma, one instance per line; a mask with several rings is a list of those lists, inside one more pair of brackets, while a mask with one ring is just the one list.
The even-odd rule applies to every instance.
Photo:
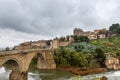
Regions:
[[[6, 70], [4, 67], [0, 68], [0, 80], [9, 80], [11, 70]], [[108, 77], [108, 80], [120, 80], [120, 70], [105, 72], [94, 75], [87, 75], [81, 77], [82, 80], [92, 80], [96, 77]], [[77, 76], [79, 78], [79, 76]], [[75, 80], [76, 76], [61, 70], [34, 70], [28, 73], [28, 80]]]

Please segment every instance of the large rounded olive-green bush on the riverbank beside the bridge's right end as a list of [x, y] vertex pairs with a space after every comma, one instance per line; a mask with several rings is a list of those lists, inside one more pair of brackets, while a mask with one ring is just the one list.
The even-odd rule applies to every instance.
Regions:
[[54, 56], [57, 66], [67, 65], [67, 66], [78, 66], [87, 67], [88, 61], [85, 54], [72, 51], [68, 48], [59, 48]]

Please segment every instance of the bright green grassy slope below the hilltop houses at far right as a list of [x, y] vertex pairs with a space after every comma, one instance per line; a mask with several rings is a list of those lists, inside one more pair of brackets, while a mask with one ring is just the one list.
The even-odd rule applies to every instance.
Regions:
[[120, 36], [92, 40], [92, 44], [99, 46], [106, 55], [110, 56], [120, 56]]

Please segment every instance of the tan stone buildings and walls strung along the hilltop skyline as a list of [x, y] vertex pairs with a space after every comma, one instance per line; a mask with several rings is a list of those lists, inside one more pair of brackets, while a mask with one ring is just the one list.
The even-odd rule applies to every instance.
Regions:
[[[74, 36], [87, 36], [89, 40], [93, 39], [103, 39], [108, 38], [109, 36], [116, 36], [116, 34], [108, 34], [106, 28], [90, 31], [83, 31], [81, 28], [75, 28], [73, 30]], [[54, 38], [53, 40], [38, 40], [21, 43], [18, 46], [15, 46], [13, 50], [19, 49], [36, 49], [36, 48], [51, 48], [57, 49], [58, 47], [69, 46], [71, 43], [74, 43], [74, 37], [72, 35], [60, 38]]]

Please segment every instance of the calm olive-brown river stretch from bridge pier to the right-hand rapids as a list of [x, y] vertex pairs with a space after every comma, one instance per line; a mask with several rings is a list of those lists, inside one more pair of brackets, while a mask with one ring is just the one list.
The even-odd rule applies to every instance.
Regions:
[[61, 70], [40, 70], [29, 73], [29, 77], [35, 80], [68, 80], [74, 75]]

